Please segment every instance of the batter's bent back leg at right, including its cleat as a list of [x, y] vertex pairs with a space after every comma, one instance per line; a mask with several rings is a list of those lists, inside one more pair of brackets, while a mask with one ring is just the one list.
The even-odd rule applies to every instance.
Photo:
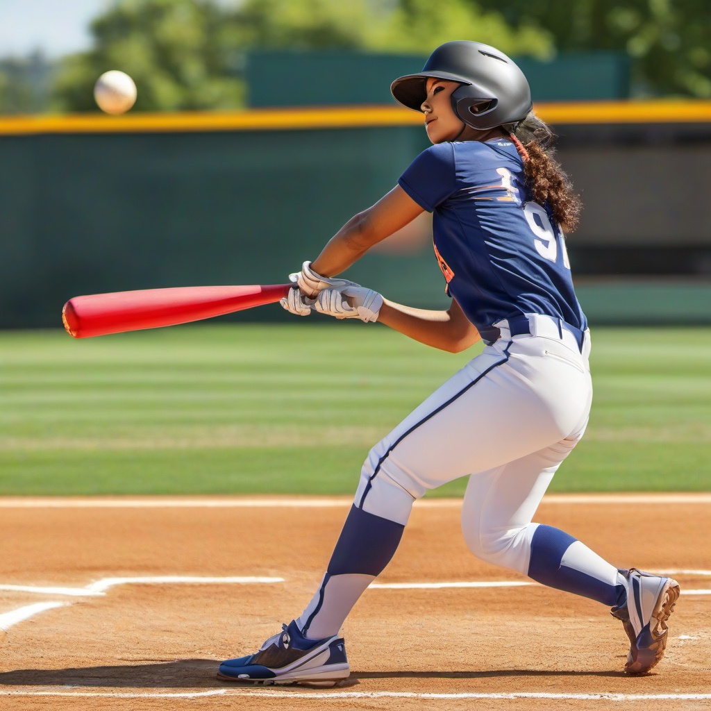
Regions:
[[678, 583], [634, 568], [618, 570], [572, 535], [532, 523], [535, 510], [576, 437], [471, 476], [462, 530], [474, 555], [536, 581], [609, 605], [631, 647], [628, 673], [650, 670], [662, 658]]

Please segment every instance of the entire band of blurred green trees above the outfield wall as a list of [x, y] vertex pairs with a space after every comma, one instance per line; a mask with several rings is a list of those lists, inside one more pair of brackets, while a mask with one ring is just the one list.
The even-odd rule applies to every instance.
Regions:
[[115, 0], [92, 34], [63, 63], [58, 109], [96, 110], [108, 69], [134, 77], [139, 110], [232, 108], [252, 48], [427, 55], [451, 39], [538, 58], [624, 52], [642, 93], [711, 97], [709, 0]]

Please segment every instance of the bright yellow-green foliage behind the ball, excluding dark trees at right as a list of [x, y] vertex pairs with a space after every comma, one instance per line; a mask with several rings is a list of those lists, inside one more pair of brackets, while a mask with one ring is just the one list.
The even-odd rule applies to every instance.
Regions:
[[91, 29], [92, 49], [63, 63], [58, 109], [96, 110], [92, 87], [109, 69], [137, 82], [137, 110], [239, 106], [240, 60], [251, 48], [424, 55], [449, 39], [476, 37], [512, 54], [552, 52], [535, 24], [510, 28], [501, 14], [466, 0], [118, 0]]

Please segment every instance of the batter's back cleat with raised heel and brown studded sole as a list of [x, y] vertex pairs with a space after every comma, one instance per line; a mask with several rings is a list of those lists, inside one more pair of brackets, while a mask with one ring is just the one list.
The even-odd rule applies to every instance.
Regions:
[[627, 579], [627, 602], [611, 613], [624, 624], [631, 644], [624, 670], [644, 674], [664, 656], [667, 621], [679, 597], [679, 584], [636, 568], [620, 572]]

